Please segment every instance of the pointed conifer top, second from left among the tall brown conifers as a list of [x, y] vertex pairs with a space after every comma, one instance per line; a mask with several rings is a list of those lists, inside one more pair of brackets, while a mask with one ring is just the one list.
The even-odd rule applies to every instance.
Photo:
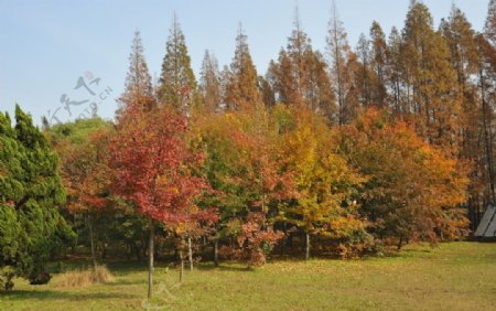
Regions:
[[196, 79], [191, 68], [191, 58], [181, 25], [174, 14], [162, 63], [159, 100], [187, 111], [196, 99]]

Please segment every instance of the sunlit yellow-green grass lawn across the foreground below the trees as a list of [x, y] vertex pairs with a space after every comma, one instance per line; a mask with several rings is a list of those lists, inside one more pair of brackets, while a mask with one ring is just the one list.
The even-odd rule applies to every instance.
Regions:
[[[112, 283], [66, 289], [17, 279], [0, 310], [147, 307], [145, 264], [110, 262]], [[496, 310], [496, 244], [408, 246], [395, 257], [273, 261], [255, 270], [202, 264], [179, 275], [159, 262], [150, 310]]]

